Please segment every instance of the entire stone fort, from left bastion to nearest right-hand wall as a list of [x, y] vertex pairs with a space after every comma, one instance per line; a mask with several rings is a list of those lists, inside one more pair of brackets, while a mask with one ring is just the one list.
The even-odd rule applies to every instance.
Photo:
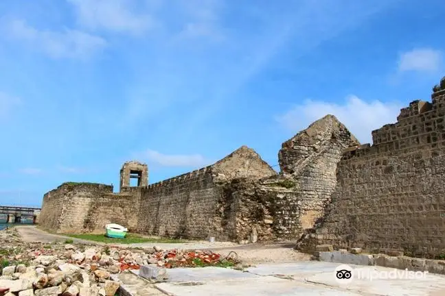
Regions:
[[[378, 114], [376, 114], [378, 116]], [[65, 183], [43, 198], [41, 225], [56, 232], [130, 231], [181, 238], [298, 240], [445, 251], [445, 78], [432, 101], [412, 101], [396, 123], [360, 145], [334, 116], [282, 144], [276, 173], [248, 147], [209, 167], [148, 184], [148, 168], [127, 162], [119, 193], [105, 184]], [[130, 186], [130, 178], [137, 186]]]

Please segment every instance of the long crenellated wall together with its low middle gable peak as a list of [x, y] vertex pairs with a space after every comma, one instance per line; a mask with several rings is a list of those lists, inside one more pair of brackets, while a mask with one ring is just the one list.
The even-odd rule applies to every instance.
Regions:
[[223, 184], [238, 177], [258, 180], [277, 175], [258, 153], [246, 146], [190, 173], [144, 188], [139, 232], [182, 238], [227, 240], [234, 230], [226, 225]]

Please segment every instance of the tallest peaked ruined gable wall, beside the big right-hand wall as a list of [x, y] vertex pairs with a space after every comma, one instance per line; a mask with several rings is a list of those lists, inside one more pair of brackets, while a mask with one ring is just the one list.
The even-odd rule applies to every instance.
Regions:
[[281, 175], [295, 182], [301, 210], [298, 223], [303, 229], [313, 227], [323, 216], [336, 186], [337, 163], [347, 147], [356, 145], [358, 140], [333, 115], [315, 121], [282, 144], [278, 154]]

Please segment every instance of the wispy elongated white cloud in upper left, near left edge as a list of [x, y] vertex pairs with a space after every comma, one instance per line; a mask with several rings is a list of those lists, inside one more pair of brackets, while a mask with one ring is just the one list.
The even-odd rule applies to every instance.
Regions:
[[52, 58], [88, 58], [106, 46], [103, 38], [73, 29], [38, 30], [21, 20], [11, 21], [6, 28], [12, 38], [29, 42]]

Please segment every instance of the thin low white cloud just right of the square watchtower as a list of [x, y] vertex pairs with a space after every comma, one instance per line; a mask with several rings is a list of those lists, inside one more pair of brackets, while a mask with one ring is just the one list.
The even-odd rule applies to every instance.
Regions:
[[162, 167], [204, 167], [209, 164], [209, 160], [200, 154], [168, 155], [148, 149], [141, 153], [141, 157]]

